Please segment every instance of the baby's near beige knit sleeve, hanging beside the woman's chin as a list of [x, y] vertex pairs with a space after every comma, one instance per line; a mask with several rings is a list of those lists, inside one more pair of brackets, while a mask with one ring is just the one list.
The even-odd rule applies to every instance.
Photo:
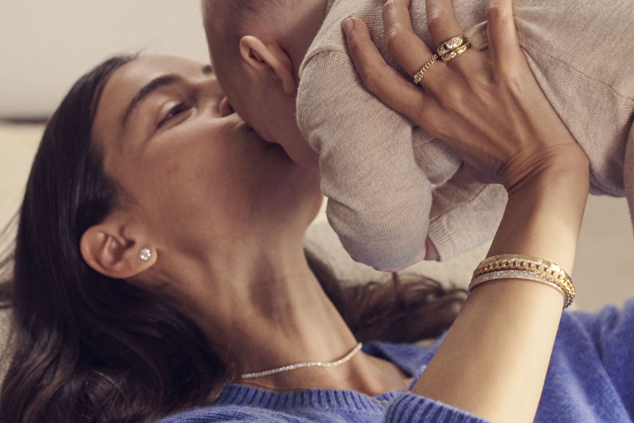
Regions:
[[297, 122], [320, 155], [328, 221], [346, 251], [384, 269], [417, 256], [432, 195], [414, 159], [411, 122], [367, 91], [340, 51], [321, 51], [306, 62]]

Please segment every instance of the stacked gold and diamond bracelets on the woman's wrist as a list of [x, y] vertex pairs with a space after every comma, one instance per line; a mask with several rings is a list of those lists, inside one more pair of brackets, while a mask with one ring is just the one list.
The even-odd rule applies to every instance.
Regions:
[[564, 308], [573, 303], [573, 281], [557, 263], [520, 254], [488, 257], [475, 268], [469, 292], [483, 282], [496, 279], [526, 279], [545, 283], [564, 296]]

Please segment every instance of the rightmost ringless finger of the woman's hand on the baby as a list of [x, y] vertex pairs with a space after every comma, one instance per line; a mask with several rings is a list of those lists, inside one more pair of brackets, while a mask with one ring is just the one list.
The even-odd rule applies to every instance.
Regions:
[[[488, 0], [486, 18], [489, 31], [489, 53], [500, 64], [522, 53], [517, 41], [512, 0]], [[522, 55], [523, 57], [523, 55]]]

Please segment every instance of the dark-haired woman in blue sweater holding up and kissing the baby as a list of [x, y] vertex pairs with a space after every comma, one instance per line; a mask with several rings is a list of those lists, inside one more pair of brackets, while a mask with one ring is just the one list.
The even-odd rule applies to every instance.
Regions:
[[[440, 16], [430, 25], [434, 38], [458, 30], [449, 1], [429, 3]], [[406, 4], [391, 4], [386, 28], [410, 51], [429, 53], [408, 32]], [[383, 72], [363, 26], [352, 23], [359, 65]], [[587, 158], [527, 68], [510, 1], [489, 2], [489, 31], [488, 53], [429, 68], [425, 83], [443, 81], [449, 94], [440, 103], [429, 101], [430, 85], [408, 91], [387, 74], [389, 86], [418, 104], [424, 96], [425, 119], [415, 117], [462, 155], [470, 169], [463, 177], [507, 188], [490, 254], [556, 259], [571, 270]], [[363, 72], [366, 81], [372, 72]], [[394, 91], [370, 88], [394, 100]], [[51, 119], [27, 186], [2, 421], [150, 421], [214, 400], [165, 421], [533, 420], [559, 292], [525, 280], [482, 283], [439, 348], [371, 344], [358, 353], [358, 338], [302, 252], [320, 201], [316, 171], [245, 126], [208, 67], [151, 57], [96, 68]], [[592, 341], [611, 341], [631, 314], [610, 327], [602, 316], [564, 317], [553, 355], [559, 379], [549, 373], [538, 421], [581, 421], [589, 409], [629, 418], [631, 383], [614, 387], [634, 380], [631, 370], [605, 375], [633, 349], [615, 342], [597, 363]], [[586, 356], [571, 361], [570, 351]], [[343, 362], [240, 377], [308, 361]], [[576, 365], [599, 376], [575, 379], [583, 375]], [[569, 396], [590, 398], [592, 389], [591, 403]]]

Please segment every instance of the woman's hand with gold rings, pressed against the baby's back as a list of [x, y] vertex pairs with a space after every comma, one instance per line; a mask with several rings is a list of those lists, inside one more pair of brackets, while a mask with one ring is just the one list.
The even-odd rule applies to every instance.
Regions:
[[[432, 52], [413, 32], [410, 0], [388, 0], [383, 10], [385, 41], [410, 75]], [[421, 86], [385, 63], [363, 21], [344, 22], [348, 46], [366, 88], [443, 140], [466, 164], [455, 179], [501, 183], [512, 192], [531, 175], [587, 161], [537, 84], [522, 52], [511, 0], [486, 6], [489, 48], [468, 49], [443, 63], [436, 60]], [[463, 34], [451, 0], [427, 1], [427, 25], [439, 46]]]

